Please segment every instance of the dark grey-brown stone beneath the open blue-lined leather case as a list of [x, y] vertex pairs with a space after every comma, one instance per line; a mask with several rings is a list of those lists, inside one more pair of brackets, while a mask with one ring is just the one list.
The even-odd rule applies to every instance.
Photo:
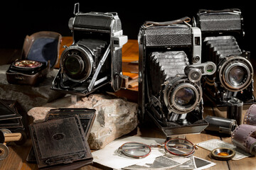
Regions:
[[58, 91], [50, 89], [55, 74], [58, 70], [53, 69], [38, 86], [9, 84], [6, 79], [6, 70], [9, 64], [0, 66], [0, 98], [6, 100], [18, 101], [23, 108], [28, 111], [35, 106], [44, 104], [63, 97]]

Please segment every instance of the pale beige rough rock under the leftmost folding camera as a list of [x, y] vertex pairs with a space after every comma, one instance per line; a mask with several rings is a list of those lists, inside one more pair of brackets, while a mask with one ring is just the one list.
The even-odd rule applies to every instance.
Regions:
[[41, 107], [31, 108], [28, 115], [34, 123], [43, 121], [52, 108], [93, 108], [96, 118], [92, 125], [88, 143], [90, 149], [101, 149], [113, 140], [137, 128], [137, 103], [125, 101], [107, 94], [90, 94], [75, 104], [70, 96], [60, 98]]

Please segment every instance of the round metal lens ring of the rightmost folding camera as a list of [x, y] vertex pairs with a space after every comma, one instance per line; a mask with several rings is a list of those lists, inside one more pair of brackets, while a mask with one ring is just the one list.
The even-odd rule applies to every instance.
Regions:
[[[239, 72], [244, 71], [244, 75], [241, 74], [242, 80], [240, 80], [239, 84], [234, 84], [235, 78], [231, 80], [231, 77], [230, 77], [231, 76], [230, 72], [234, 71], [234, 68], [237, 68], [237, 73], [238, 73], [238, 69], [240, 69]], [[252, 74], [253, 74], [252, 64], [250, 64], [248, 60], [246, 60], [244, 57], [232, 56], [232, 57], [228, 57], [228, 60], [226, 60], [220, 67], [219, 79], [220, 79], [220, 83], [226, 89], [230, 91], [241, 91], [250, 85], [253, 78]], [[238, 74], [233, 74], [233, 76], [237, 78]]]

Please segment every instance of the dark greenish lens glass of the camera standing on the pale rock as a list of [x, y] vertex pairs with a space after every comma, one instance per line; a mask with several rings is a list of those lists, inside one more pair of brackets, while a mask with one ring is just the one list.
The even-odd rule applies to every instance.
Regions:
[[68, 57], [68, 59], [65, 60], [64, 67], [69, 74], [78, 74], [82, 69], [81, 63], [77, 57]]

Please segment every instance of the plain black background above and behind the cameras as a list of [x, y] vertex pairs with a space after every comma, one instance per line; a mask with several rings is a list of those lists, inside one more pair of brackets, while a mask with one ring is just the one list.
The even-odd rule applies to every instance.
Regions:
[[[240, 8], [244, 18], [245, 50], [251, 51], [255, 40], [252, 3], [246, 1], [5, 1], [1, 2], [0, 48], [22, 48], [26, 35], [50, 30], [71, 36], [68, 20], [80, 2], [80, 11], [117, 12], [124, 35], [137, 39], [144, 21], [172, 21], [196, 16], [198, 9]], [[252, 37], [254, 36], [254, 37]]]

